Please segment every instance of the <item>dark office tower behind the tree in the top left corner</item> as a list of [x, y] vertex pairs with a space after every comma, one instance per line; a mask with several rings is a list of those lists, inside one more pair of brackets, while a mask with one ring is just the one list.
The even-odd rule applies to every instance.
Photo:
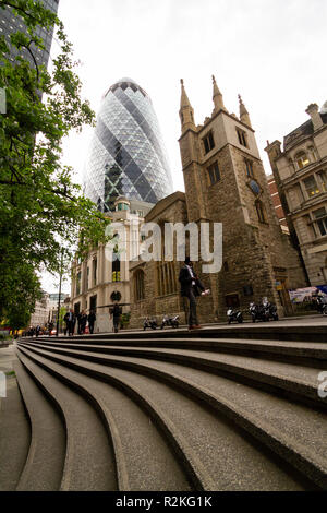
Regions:
[[[40, 3], [45, 5], [46, 9], [55, 12], [58, 12], [58, 4], [59, 0], [39, 0]], [[0, 36], [5, 36], [8, 43], [10, 41], [10, 34], [15, 32], [24, 32], [26, 33], [26, 25], [24, 20], [21, 16], [15, 16], [11, 7], [7, 7], [5, 9], [0, 9]], [[41, 37], [45, 44], [45, 49], [37, 49], [35, 51], [35, 47], [32, 45], [31, 49], [33, 53], [35, 53], [37, 64], [44, 64], [46, 68], [48, 67], [49, 55], [51, 49], [52, 43], [52, 35], [53, 31], [45, 31], [41, 27], [36, 28], [36, 35]], [[14, 61], [17, 55], [24, 57], [24, 59], [28, 60], [32, 65], [34, 65], [34, 60], [31, 53], [26, 50], [26, 48], [22, 48], [19, 51], [16, 48], [10, 47], [10, 55], [11, 60]]]

